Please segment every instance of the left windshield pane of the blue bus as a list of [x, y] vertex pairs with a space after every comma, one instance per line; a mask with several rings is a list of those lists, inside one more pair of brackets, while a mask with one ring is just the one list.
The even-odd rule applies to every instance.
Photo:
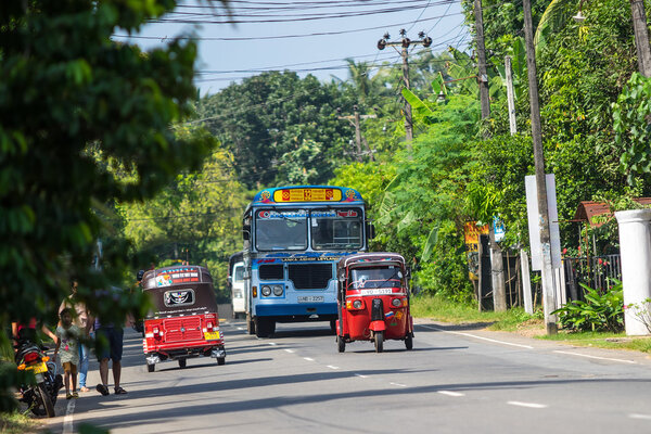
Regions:
[[307, 212], [305, 209], [257, 210], [255, 246], [258, 251], [306, 250]]

